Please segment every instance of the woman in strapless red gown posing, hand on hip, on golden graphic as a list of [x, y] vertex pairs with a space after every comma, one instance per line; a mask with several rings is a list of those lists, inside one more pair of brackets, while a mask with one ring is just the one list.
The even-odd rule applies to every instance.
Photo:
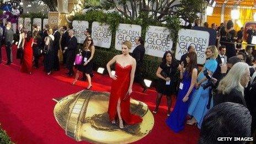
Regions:
[[[109, 76], [114, 79], [111, 86], [109, 98], [109, 119], [115, 124], [115, 119], [119, 119], [119, 127], [124, 128], [123, 121], [132, 125], [142, 121], [140, 116], [130, 113], [130, 94], [134, 83], [136, 60], [129, 55], [132, 44], [130, 41], [122, 43], [122, 54], [116, 55], [108, 62], [106, 68]], [[115, 63], [115, 75], [111, 74], [110, 66]]]

